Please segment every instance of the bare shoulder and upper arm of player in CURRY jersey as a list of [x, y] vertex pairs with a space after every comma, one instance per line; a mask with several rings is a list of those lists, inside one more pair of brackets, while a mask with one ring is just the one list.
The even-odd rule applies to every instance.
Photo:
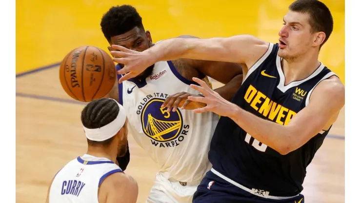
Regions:
[[98, 199], [99, 203], [136, 203], [138, 183], [124, 173], [114, 173], [100, 184]]

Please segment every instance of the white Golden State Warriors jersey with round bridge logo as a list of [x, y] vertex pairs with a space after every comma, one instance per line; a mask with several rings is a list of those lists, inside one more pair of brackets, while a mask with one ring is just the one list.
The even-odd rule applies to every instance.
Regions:
[[191, 83], [197, 84], [182, 77], [171, 61], [159, 61], [145, 80], [130, 79], [118, 86], [129, 132], [167, 178], [181, 182], [200, 181], [210, 170], [208, 150], [219, 120], [212, 112], [160, 108], [170, 95], [199, 94]]

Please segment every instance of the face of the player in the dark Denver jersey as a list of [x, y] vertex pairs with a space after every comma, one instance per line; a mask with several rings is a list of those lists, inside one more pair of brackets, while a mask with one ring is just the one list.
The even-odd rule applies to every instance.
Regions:
[[284, 25], [279, 32], [280, 57], [286, 60], [298, 58], [315, 45], [315, 34], [311, 33], [309, 14], [289, 11], [283, 21]]

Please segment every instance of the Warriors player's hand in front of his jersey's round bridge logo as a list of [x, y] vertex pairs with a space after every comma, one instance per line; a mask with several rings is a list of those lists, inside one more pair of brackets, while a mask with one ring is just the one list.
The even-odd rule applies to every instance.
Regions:
[[167, 99], [161, 105], [161, 108], [167, 107], [168, 112], [170, 112], [171, 110], [175, 112], [178, 107], [180, 107], [181, 109], [192, 110], [192, 109], [202, 108], [205, 106], [205, 103], [192, 102], [188, 100], [189, 96], [201, 97], [200, 95], [194, 95], [188, 92], [180, 92], [167, 97]]

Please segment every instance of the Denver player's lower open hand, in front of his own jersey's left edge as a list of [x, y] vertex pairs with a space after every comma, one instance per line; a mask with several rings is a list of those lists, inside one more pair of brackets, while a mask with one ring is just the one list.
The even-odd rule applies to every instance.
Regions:
[[195, 113], [203, 113], [207, 111], [212, 111], [220, 116], [230, 116], [232, 115], [235, 108], [238, 106], [234, 103], [228, 102], [223, 99], [220, 94], [212, 90], [204, 81], [198, 78], [193, 78], [193, 81], [199, 83], [201, 86], [191, 84], [191, 87], [199, 92], [201, 92], [204, 97], [194, 97], [189, 96], [188, 100], [193, 102], [202, 102], [206, 106], [198, 109], [194, 109]]

